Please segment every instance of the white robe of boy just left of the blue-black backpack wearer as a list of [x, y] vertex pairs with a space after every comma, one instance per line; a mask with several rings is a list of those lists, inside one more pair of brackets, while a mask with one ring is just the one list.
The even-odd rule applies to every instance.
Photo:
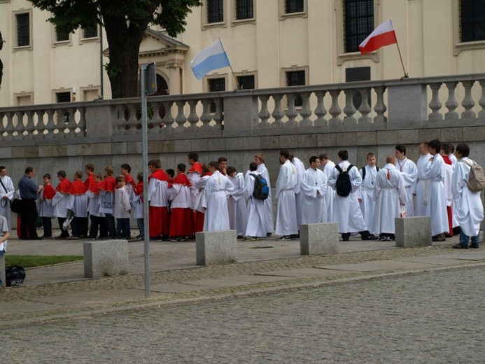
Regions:
[[231, 230], [236, 230], [237, 235], [244, 235], [248, 219], [246, 199], [244, 198], [244, 176], [241, 172], [234, 177], [229, 177], [234, 185], [234, 190], [227, 197], [227, 209], [229, 209], [229, 225]]

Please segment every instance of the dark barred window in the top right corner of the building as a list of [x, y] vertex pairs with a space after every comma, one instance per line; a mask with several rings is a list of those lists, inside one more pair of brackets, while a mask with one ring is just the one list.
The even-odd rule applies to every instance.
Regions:
[[461, 41], [485, 41], [485, 0], [460, 1]]

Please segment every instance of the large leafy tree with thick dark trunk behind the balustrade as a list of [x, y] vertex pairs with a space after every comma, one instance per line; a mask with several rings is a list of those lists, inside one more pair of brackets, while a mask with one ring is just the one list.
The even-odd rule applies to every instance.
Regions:
[[52, 13], [57, 31], [70, 33], [101, 25], [106, 31], [110, 60], [106, 66], [113, 98], [135, 97], [138, 52], [148, 25], [162, 26], [169, 36], [185, 30], [185, 18], [200, 0], [29, 0]]

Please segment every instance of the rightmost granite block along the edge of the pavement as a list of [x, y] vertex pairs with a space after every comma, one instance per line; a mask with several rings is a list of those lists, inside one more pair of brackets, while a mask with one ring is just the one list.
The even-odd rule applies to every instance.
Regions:
[[412, 248], [431, 245], [430, 216], [395, 218], [395, 246]]

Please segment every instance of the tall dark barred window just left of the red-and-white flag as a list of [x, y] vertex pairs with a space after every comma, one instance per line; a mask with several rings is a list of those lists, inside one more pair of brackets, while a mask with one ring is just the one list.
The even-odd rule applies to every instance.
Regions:
[[359, 44], [374, 30], [374, 0], [345, 0], [345, 52], [358, 52]]

